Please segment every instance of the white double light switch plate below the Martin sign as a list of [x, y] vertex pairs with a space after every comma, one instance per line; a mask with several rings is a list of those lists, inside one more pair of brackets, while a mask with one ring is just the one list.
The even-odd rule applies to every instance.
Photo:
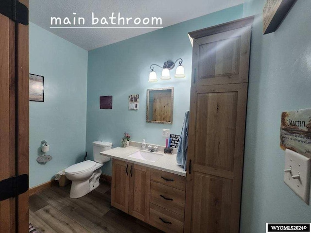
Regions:
[[[310, 195], [310, 168], [311, 159], [293, 150], [285, 150], [285, 170], [284, 182], [297, 194], [304, 202], [309, 204]], [[299, 179], [293, 176], [299, 174]]]

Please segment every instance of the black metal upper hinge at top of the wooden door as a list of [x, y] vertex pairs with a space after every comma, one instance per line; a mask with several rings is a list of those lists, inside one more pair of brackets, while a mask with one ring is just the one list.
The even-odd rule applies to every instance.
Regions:
[[0, 0], [0, 14], [14, 22], [28, 25], [28, 8], [18, 0]]

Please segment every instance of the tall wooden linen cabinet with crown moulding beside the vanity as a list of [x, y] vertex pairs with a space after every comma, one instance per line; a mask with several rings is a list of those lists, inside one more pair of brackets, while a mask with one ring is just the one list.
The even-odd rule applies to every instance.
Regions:
[[193, 44], [184, 233], [238, 233], [253, 17]]

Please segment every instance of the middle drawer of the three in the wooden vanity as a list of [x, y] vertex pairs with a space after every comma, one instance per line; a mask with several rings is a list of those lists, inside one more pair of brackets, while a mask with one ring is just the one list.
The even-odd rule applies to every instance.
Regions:
[[151, 182], [150, 202], [184, 216], [185, 191]]

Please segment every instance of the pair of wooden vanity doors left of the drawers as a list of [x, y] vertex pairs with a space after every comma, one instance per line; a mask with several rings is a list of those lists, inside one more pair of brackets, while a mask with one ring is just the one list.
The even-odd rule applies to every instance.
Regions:
[[149, 222], [150, 168], [112, 160], [111, 205]]

